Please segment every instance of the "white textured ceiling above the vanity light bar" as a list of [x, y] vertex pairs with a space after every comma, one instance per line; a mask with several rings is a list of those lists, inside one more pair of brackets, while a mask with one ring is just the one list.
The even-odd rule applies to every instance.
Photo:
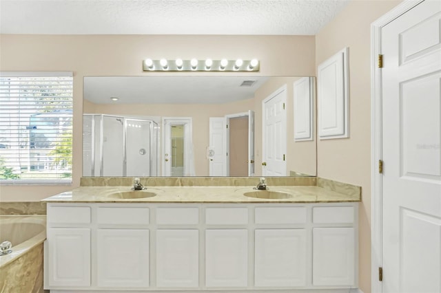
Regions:
[[349, 0], [0, 0], [3, 34], [314, 35]]

